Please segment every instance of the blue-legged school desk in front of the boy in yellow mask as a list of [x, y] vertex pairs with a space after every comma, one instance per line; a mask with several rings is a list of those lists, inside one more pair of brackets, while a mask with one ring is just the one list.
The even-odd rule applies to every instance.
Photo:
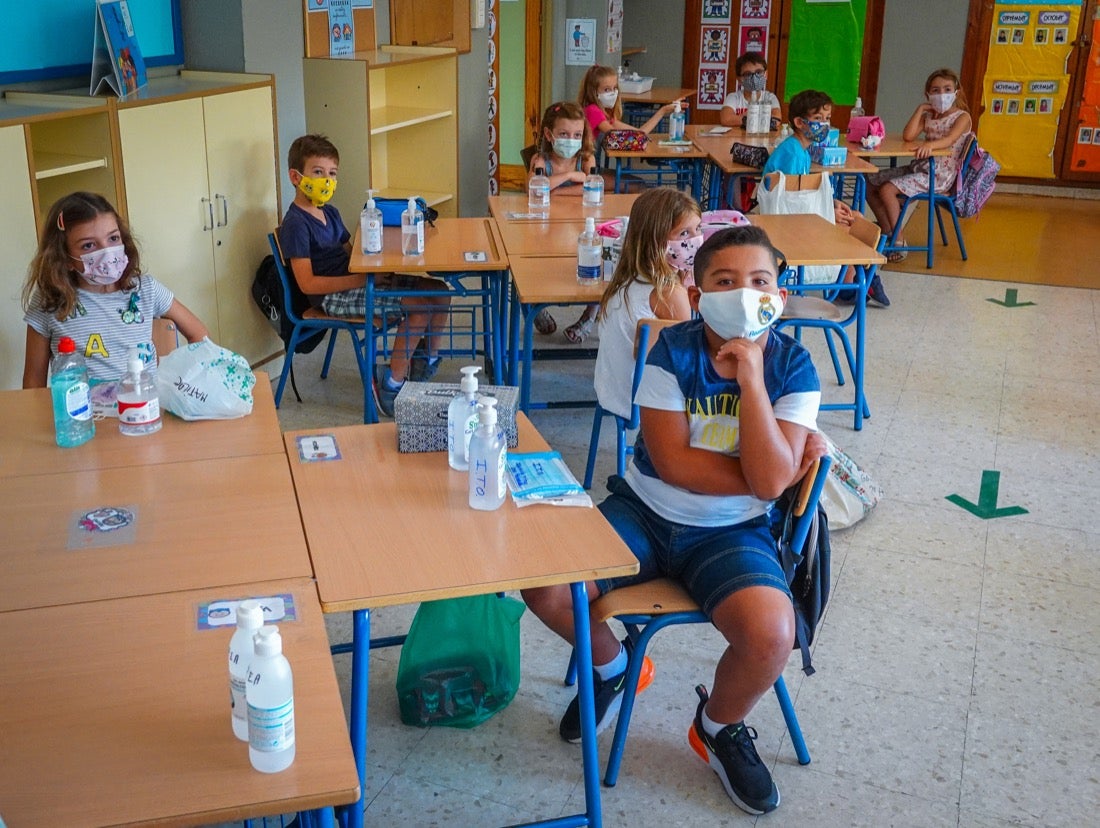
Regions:
[[[396, 227], [383, 228], [382, 253], [363, 253], [360, 230], [356, 228], [352, 240], [351, 273], [366, 274], [366, 319], [373, 323], [374, 303], [378, 290], [374, 287], [374, 276], [378, 273], [417, 273], [446, 279], [446, 292], [452, 301], [457, 298], [476, 298], [482, 305], [482, 338], [486, 358], [493, 374], [493, 382], [503, 379], [504, 327], [503, 316], [507, 289], [506, 273], [508, 260], [496, 230], [496, 222], [490, 218], [480, 219], [436, 219], [436, 225], [425, 225], [424, 253], [419, 256], [402, 254], [402, 230]], [[476, 286], [464, 279], [477, 276]], [[430, 296], [422, 290], [386, 290], [387, 296]], [[371, 331], [366, 336], [366, 364], [373, 366], [377, 357], [377, 346]], [[373, 368], [372, 368], [373, 369]], [[363, 388], [363, 421], [377, 422], [374, 393], [370, 385]]]

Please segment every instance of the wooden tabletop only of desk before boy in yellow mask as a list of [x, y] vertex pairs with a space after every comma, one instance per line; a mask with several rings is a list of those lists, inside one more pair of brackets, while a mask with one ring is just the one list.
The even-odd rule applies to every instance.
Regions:
[[[496, 223], [487, 218], [436, 219], [436, 227], [425, 227], [420, 256], [402, 255], [400, 228], [383, 228], [382, 253], [363, 253], [358, 228], [354, 235], [351, 273], [503, 271], [508, 266]], [[484, 261], [470, 261], [466, 253], [484, 253]]]

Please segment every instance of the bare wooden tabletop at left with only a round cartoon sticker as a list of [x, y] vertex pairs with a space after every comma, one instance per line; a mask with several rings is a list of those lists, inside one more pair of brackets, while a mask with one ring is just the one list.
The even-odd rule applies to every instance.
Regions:
[[0, 612], [312, 572], [285, 454], [3, 477], [0, 526]]

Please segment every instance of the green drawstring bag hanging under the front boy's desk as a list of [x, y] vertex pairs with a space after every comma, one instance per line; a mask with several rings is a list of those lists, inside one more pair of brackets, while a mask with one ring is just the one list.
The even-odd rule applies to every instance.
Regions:
[[425, 601], [397, 665], [402, 721], [471, 728], [519, 689], [522, 601], [496, 595]]

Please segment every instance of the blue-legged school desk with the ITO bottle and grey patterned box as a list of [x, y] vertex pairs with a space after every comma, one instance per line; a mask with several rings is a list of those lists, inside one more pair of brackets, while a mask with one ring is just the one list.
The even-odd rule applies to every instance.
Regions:
[[[519, 451], [546, 451], [530, 421], [522, 415], [517, 419]], [[297, 438], [317, 433], [336, 438], [340, 460], [299, 461]], [[284, 437], [321, 608], [353, 614], [351, 739], [360, 790], [365, 790], [372, 608], [570, 584], [580, 665], [585, 813], [539, 825], [598, 828], [585, 582], [638, 571], [637, 559], [610, 525], [597, 509], [519, 509], [510, 499], [496, 511], [475, 511], [468, 504], [466, 473], [451, 470], [443, 452], [399, 454], [394, 423]], [[573, 540], [562, 543], [563, 537]], [[548, 728], [546, 738], [558, 735]], [[362, 799], [349, 817], [352, 828], [362, 825]]]

